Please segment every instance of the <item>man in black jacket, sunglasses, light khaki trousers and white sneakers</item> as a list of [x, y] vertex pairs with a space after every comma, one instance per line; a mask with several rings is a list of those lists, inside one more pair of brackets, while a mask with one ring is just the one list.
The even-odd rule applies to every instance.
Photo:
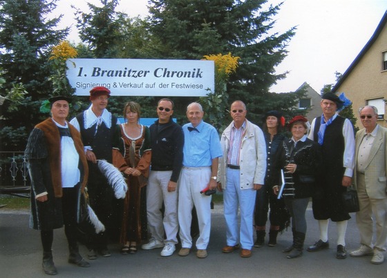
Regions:
[[147, 215], [152, 237], [142, 249], [164, 247], [161, 255], [167, 257], [173, 255], [178, 243], [177, 181], [182, 168], [184, 135], [182, 128], [172, 121], [171, 99], [160, 99], [157, 113], [158, 120], [150, 127], [152, 160], [147, 188]]

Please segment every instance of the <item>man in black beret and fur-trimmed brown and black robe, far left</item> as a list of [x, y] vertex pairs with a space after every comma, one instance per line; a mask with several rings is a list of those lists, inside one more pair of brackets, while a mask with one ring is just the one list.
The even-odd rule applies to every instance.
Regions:
[[88, 166], [79, 132], [71, 126], [68, 97], [50, 98], [52, 117], [38, 123], [30, 133], [26, 159], [31, 178], [30, 227], [40, 230], [43, 270], [56, 275], [53, 261], [54, 229], [62, 228], [68, 241], [68, 262], [90, 266], [79, 255], [77, 244], [77, 199], [88, 177]]

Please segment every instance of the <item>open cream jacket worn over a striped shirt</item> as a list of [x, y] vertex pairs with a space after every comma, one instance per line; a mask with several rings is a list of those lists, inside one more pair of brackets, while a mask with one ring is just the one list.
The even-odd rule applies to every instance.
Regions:
[[[219, 158], [218, 177], [222, 188], [226, 188], [227, 154], [233, 126], [234, 121], [225, 129], [220, 139], [223, 157]], [[239, 152], [240, 189], [254, 188], [254, 183], [263, 185], [266, 173], [265, 137], [261, 128], [247, 120]]]

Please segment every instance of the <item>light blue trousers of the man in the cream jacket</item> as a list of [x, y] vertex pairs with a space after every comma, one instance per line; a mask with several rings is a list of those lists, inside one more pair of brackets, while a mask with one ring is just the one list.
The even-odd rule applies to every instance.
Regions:
[[[227, 245], [240, 242], [243, 249], [251, 250], [253, 239], [253, 215], [256, 191], [240, 189], [240, 170], [227, 168], [226, 188], [223, 190]], [[240, 232], [238, 232], [238, 206], [240, 208]]]

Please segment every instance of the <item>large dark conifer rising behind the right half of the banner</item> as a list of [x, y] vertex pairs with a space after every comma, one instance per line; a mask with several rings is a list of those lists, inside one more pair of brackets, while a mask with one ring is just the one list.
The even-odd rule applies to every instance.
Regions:
[[[274, 68], [285, 58], [287, 43], [295, 30], [270, 34], [275, 23], [272, 17], [281, 4], [263, 8], [266, 0], [149, 2], [150, 30], [162, 42], [160, 57], [200, 59], [206, 54], [229, 52], [240, 57], [238, 70], [229, 79], [229, 100], [244, 101], [249, 119], [259, 121], [259, 116], [267, 110], [267, 99], [272, 96], [270, 86], [285, 78], [286, 72], [276, 74]], [[296, 95], [288, 96], [293, 97]], [[272, 102], [276, 99], [272, 98]], [[281, 105], [282, 109], [291, 107], [287, 103]]]

